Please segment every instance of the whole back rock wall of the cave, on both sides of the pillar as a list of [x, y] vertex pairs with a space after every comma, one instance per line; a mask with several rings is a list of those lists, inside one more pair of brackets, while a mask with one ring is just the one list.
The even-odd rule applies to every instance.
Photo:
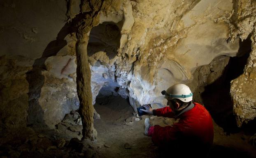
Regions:
[[[0, 2], [4, 15], [0, 17], [0, 118], [8, 126], [54, 128], [65, 113], [78, 109], [75, 45], [79, 37], [73, 26], [77, 19], [77, 25], [86, 25], [80, 31], [88, 36], [84, 49], [91, 69], [92, 102], [99, 93], [119, 94], [129, 97], [133, 108], [146, 103], [162, 107], [162, 90], [178, 82], [197, 87], [192, 74], [199, 66], [220, 55], [237, 54], [236, 35], [244, 39], [252, 31], [240, 26], [242, 16], [234, 16], [237, 8], [245, 8], [238, 4], [227, 0]], [[232, 27], [235, 24], [240, 32]], [[230, 35], [232, 42], [227, 43]]]

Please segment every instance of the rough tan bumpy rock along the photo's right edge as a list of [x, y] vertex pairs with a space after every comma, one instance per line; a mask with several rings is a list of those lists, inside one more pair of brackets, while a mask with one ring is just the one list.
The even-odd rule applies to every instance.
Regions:
[[251, 53], [244, 73], [231, 81], [230, 94], [233, 98], [237, 126], [256, 117], [256, 2], [234, 0], [235, 11], [230, 21], [230, 41], [237, 36], [242, 40], [251, 36]]

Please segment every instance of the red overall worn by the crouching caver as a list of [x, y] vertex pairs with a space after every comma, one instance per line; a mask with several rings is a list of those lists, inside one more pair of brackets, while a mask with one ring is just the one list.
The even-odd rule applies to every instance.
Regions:
[[[171, 144], [174, 146], [188, 144], [189, 146], [210, 147], [214, 135], [212, 117], [205, 107], [199, 103], [194, 103], [194, 105], [191, 110], [181, 114], [178, 117], [179, 122], [173, 126], [151, 126], [149, 136], [152, 136], [154, 144], [162, 147]], [[174, 117], [169, 106], [154, 110], [154, 115]]]

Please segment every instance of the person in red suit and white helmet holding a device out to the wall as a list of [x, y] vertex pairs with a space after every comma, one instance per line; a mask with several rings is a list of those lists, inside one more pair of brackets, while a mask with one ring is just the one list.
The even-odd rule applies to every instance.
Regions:
[[152, 109], [143, 105], [147, 114], [179, 119], [173, 126], [151, 126], [145, 119], [145, 135], [152, 142], [177, 156], [207, 157], [213, 143], [212, 117], [205, 107], [192, 102], [193, 93], [187, 85], [175, 84], [162, 91], [168, 100], [166, 107]]

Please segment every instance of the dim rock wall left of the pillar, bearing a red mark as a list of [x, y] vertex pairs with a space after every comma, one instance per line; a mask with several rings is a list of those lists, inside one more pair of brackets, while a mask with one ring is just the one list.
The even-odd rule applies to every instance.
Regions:
[[66, 6], [64, 0], [0, 2], [0, 119], [8, 127], [54, 128], [79, 107]]

